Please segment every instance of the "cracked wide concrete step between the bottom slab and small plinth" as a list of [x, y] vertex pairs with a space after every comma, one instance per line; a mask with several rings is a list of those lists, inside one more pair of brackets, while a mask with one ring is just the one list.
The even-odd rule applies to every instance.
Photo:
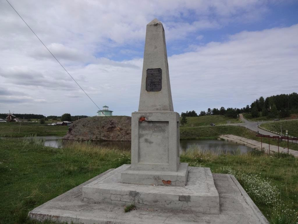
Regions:
[[134, 203], [151, 209], [219, 213], [219, 197], [210, 168], [190, 168], [186, 186], [180, 187], [121, 183], [120, 174], [128, 167], [127, 164], [122, 165], [85, 185], [83, 200], [119, 205]]

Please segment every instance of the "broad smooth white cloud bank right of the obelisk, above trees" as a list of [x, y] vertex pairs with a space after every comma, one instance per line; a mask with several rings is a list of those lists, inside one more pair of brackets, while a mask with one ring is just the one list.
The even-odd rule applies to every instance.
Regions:
[[[298, 24], [258, 32], [241, 32], [224, 43], [169, 58], [172, 90], [178, 108], [242, 107], [259, 96], [297, 91]], [[178, 94], [177, 94], [178, 93]]]

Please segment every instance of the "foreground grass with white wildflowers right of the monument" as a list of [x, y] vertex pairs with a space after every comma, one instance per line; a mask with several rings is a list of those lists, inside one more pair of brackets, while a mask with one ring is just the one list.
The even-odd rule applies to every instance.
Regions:
[[[242, 155], [216, 155], [198, 149], [180, 156], [190, 166], [210, 167], [212, 173], [233, 174], [270, 223], [296, 223], [298, 210], [298, 159], [275, 157], [260, 152]], [[254, 193], [257, 190], [257, 193]], [[279, 196], [273, 193], [279, 192]], [[283, 211], [277, 217], [276, 201], [280, 199]], [[295, 211], [293, 211], [293, 209]], [[290, 211], [291, 210], [291, 211]], [[274, 212], [273, 212], [274, 213]], [[295, 215], [296, 214], [296, 215]], [[284, 221], [276, 222], [278, 218]], [[294, 220], [294, 221], [293, 221]]]

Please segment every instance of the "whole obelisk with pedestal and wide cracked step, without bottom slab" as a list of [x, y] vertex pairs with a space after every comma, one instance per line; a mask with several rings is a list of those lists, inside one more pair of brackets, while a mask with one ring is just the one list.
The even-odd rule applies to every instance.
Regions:
[[131, 114], [131, 164], [83, 186], [83, 199], [219, 214], [210, 168], [179, 162], [179, 114], [169, 77], [164, 29], [154, 19], [146, 30], [139, 111]]

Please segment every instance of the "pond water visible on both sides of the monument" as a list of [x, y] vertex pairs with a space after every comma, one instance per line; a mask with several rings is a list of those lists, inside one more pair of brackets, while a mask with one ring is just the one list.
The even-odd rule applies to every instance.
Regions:
[[[45, 146], [51, 146], [55, 148], [63, 148], [69, 142], [74, 142], [73, 140], [64, 140], [62, 137], [55, 137], [55, 136], [43, 136], [38, 137], [44, 139]], [[79, 141], [80, 142], [80, 141]], [[121, 150], [128, 150], [131, 149], [131, 142], [81, 142], [82, 144], [92, 144], [101, 147], [112, 147], [118, 148]], [[201, 150], [201, 151], [213, 151], [218, 154], [222, 153], [246, 153], [251, 151], [252, 148], [247, 147], [245, 145], [240, 145], [234, 142], [227, 142], [222, 140], [180, 140], [180, 151], [187, 151], [187, 150]]]

